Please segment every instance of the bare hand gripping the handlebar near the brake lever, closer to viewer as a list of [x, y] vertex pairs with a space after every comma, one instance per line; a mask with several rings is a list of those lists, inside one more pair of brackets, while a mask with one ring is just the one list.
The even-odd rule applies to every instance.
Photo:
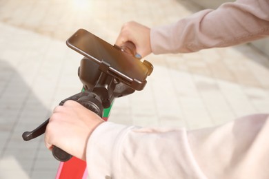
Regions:
[[57, 146], [72, 156], [86, 160], [88, 138], [103, 120], [75, 101], [66, 101], [54, 109], [46, 127], [45, 144]]

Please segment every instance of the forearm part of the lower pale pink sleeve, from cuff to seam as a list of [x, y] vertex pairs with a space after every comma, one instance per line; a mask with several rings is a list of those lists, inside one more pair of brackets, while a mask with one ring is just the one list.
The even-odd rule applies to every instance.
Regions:
[[103, 123], [88, 142], [90, 178], [204, 178], [185, 129]]

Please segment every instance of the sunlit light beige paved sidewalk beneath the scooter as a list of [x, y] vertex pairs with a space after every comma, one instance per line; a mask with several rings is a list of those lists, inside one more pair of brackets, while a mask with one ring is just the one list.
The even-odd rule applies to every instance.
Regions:
[[[80, 91], [82, 58], [65, 44], [79, 28], [114, 43], [130, 20], [150, 27], [199, 11], [188, 1], [0, 1], [0, 178], [54, 178], [59, 162], [43, 137], [23, 131]], [[110, 120], [197, 129], [269, 112], [269, 59], [249, 45], [192, 54], [150, 55], [141, 92], [115, 101]]]

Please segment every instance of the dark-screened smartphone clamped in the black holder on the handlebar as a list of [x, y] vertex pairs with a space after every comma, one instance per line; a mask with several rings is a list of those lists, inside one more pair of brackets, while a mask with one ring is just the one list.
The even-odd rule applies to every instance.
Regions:
[[135, 90], [143, 89], [147, 76], [153, 70], [153, 66], [148, 61], [139, 61], [87, 30], [77, 30], [66, 44], [72, 50], [99, 64], [99, 70]]

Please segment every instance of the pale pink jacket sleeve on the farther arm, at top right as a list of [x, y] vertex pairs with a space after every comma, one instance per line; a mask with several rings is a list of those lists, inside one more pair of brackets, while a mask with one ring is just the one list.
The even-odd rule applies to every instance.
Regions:
[[237, 0], [202, 10], [177, 23], [152, 28], [154, 54], [222, 48], [269, 36], [269, 1]]

